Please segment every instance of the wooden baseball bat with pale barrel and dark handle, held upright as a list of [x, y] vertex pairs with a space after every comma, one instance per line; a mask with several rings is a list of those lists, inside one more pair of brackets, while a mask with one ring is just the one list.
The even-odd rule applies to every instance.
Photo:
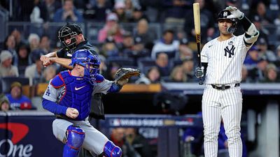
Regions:
[[[197, 41], [197, 59], [198, 66], [201, 68], [202, 63], [200, 59], [200, 3], [193, 3], [193, 17], [195, 20], [195, 39]], [[199, 84], [203, 84], [202, 77], [200, 77]]]

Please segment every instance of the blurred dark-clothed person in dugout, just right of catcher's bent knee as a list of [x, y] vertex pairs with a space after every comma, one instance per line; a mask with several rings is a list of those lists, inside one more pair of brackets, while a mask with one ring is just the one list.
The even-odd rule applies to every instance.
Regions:
[[136, 128], [126, 128], [125, 137], [127, 142], [129, 142], [142, 157], [153, 156], [148, 141], [143, 135], [138, 133]]

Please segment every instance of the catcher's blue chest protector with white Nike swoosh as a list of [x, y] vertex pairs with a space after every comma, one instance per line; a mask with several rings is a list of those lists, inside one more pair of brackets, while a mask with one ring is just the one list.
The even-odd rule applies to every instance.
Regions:
[[59, 105], [76, 108], [79, 112], [75, 120], [84, 120], [90, 114], [93, 86], [83, 77], [71, 76], [69, 70], [62, 71], [51, 82], [52, 87], [65, 87]]

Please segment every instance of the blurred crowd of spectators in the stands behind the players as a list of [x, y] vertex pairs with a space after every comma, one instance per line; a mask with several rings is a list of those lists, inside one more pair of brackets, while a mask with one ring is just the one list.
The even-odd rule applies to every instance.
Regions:
[[[274, 33], [280, 32], [278, 3], [257, 0], [28, 0], [13, 1], [13, 8], [8, 1], [1, 1], [1, 7], [13, 15], [8, 22], [29, 22], [30, 28], [26, 32], [8, 25], [8, 36], [0, 46], [0, 77], [27, 77], [33, 84], [47, 83], [61, 69], [58, 64], [44, 68], [40, 61], [41, 55], [60, 46], [57, 34], [55, 38], [51, 35], [59, 27], [50, 30], [48, 24], [92, 22], [102, 26], [97, 30], [97, 40], [89, 35], [94, 30], [86, 30], [85, 37], [99, 49], [100, 73], [109, 80], [118, 68], [128, 66], [142, 72], [131, 83], [197, 82], [194, 2], [200, 3], [202, 45], [218, 36], [219, 10], [229, 5], [241, 8], [260, 30], [260, 38], [244, 61], [242, 82], [280, 82], [280, 42], [277, 36], [272, 40], [270, 36], [275, 34], [269, 33], [271, 26]], [[125, 29], [125, 24], [136, 27]], [[160, 34], [151, 30], [152, 24], [160, 24]], [[237, 30], [236, 35], [244, 33]]]

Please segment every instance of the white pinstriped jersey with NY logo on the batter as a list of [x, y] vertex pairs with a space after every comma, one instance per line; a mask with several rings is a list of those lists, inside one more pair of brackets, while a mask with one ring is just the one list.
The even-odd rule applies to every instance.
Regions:
[[205, 84], [232, 84], [241, 82], [241, 68], [250, 47], [244, 43], [244, 35], [232, 36], [224, 41], [218, 38], [202, 48], [202, 63], [208, 63]]

